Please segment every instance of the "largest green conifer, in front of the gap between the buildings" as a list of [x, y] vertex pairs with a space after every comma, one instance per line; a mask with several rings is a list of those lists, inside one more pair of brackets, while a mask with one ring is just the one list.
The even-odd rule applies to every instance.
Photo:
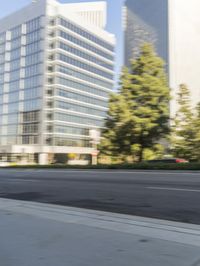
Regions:
[[120, 85], [119, 93], [110, 98], [100, 150], [123, 161], [142, 161], [147, 151], [158, 150], [159, 141], [169, 132], [164, 62], [152, 45], [143, 45], [130, 69], [123, 69]]

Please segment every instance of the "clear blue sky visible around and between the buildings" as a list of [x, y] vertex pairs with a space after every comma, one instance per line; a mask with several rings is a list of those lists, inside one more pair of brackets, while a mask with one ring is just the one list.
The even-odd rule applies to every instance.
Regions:
[[[0, 18], [26, 6], [31, 3], [31, 0], [0, 0]], [[59, 0], [62, 3], [73, 3], [73, 2], [93, 2], [95, 0]], [[116, 73], [121, 70], [123, 63], [123, 40], [122, 40], [122, 14], [121, 8], [124, 0], [106, 0], [108, 3], [108, 24], [107, 30], [114, 33], [117, 38], [116, 47]], [[117, 77], [116, 77], [117, 79]]]

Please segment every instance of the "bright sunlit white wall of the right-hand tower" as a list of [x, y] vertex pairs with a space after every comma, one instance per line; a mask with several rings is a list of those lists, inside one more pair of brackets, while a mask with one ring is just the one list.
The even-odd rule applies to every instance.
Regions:
[[169, 0], [169, 71], [173, 100], [171, 114], [177, 110], [178, 86], [185, 83], [192, 103], [200, 102], [200, 1]]

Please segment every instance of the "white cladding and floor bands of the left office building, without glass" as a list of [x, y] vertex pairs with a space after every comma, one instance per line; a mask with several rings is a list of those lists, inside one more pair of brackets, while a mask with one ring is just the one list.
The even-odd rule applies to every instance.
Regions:
[[[47, 121], [46, 119], [46, 114], [47, 114], [47, 109], [48, 109], [48, 106], [47, 106], [47, 102], [48, 100], [52, 100], [50, 99], [51, 97], [47, 95], [46, 93], [46, 89], [49, 88], [49, 84], [48, 84], [48, 77], [50, 77], [51, 75], [53, 75], [53, 77], [58, 77], [58, 76], [64, 76], [64, 77], [68, 77], [67, 74], [62, 74], [62, 73], [57, 73], [54, 69], [54, 71], [47, 71], [48, 69], [48, 66], [51, 65], [51, 66], [54, 66], [54, 63], [56, 63], [56, 55], [59, 53], [59, 52], [62, 52], [62, 54], [65, 54], [65, 55], [68, 55], [70, 56], [71, 58], [73, 59], [77, 59], [77, 62], [84, 62], [84, 63], [87, 63], [88, 66], [94, 66], [97, 70], [100, 70], [100, 71], [104, 71], [104, 73], [108, 73], [108, 74], [113, 74], [113, 70], [111, 70], [110, 68], [108, 68], [108, 64], [110, 64], [111, 66], [114, 64], [113, 60], [114, 59], [108, 59], [106, 56], [102, 55], [101, 53], [98, 54], [98, 52], [95, 52], [95, 51], [90, 51], [90, 49], [87, 51], [87, 49], [85, 48], [82, 48], [81, 46], [77, 46], [74, 44], [73, 45], [73, 42], [71, 43], [71, 47], [72, 48], [79, 48], [80, 51], [84, 52], [84, 53], [88, 53], [88, 55], [91, 55], [94, 57], [96, 57], [97, 61], [92, 61], [91, 59], [84, 59], [84, 58], [81, 58], [79, 56], [79, 58], [73, 54], [73, 52], [70, 54], [70, 53], [67, 53], [67, 51], [60, 51], [59, 49], [55, 49], [54, 48], [51, 48], [50, 47], [50, 44], [51, 43], [58, 43], [58, 41], [60, 40], [60, 37], [55, 37], [57, 35], [57, 33], [59, 32], [59, 30], [63, 30], [65, 32], [68, 32], [69, 34], [71, 34], [72, 36], [75, 36], [76, 38], [80, 39], [80, 40], [83, 40], [86, 44], [88, 43], [90, 45], [90, 47], [94, 47], [95, 49], [97, 49], [98, 51], [102, 51], [104, 54], [108, 54], [108, 55], [111, 55], [111, 58], [114, 58], [114, 52], [109, 50], [108, 48], [105, 48], [104, 45], [101, 45], [101, 43], [96, 43], [95, 41], [92, 41], [91, 39], [87, 39], [87, 38], [84, 38], [83, 36], [77, 34], [77, 33], [74, 33], [73, 30], [68, 30], [67, 28], [65, 27], [62, 27], [61, 25], [57, 25], [57, 22], [58, 22], [58, 17], [63, 17], [63, 18], [66, 18], [67, 20], [71, 21], [72, 23], [74, 23], [75, 25], [79, 26], [80, 27], [80, 30], [83, 29], [83, 30], [86, 30], [88, 31], [90, 34], [94, 34], [94, 36], [96, 36], [97, 38], [101, 39], [102, 41], [106, 41], [107, 44], [110, 44], [111, 46], [114, 46], [115, 44], [115, 38], [114, 38], [114, 35], [113, 34], [110, 34], [108, 33], [104, 27], [106, 25], [106, 3], [105, 2], [94, 2], [94, 3], [90, 3], [90, 5], [88, 5], [88, 3], [83, 3], [83, 4], [61, 4], [59, 3], [58, 1], [55, 1], [55, 0], [38, 0], [38, 1], [35, 1], [33, 3], [31, 3], [29, 6], [11, 14], [10, 16], [4, 18], [1, 20], [0, 24], [1, 24], [1, 28], [0, 28], [0, 33], [1, 32], [6, 32], [6, 35], [8, 35], [9, 37], [9, 34], [10, 34], [10, 29], [12, 29], [13, 27], [17, 26], [17, 25], [22, 25], [22, 31], [25, 31], [25, 24], [27, 21], [29, 20], [32, 20], [36, 17], [39, 17], [39, 16], [42, 16], [42, 20], [41, 20], [41, 24], [40, 26], [42, 26], [42, 29], [41, 29], [41, 37], [43, 38], [43, 41], [41, 41], [41, 49], [42, 49], [42, 53], [41, 53], [41, 58], [42, 58], [42, 66], [41, 66], [41, 73], [42, 73], [42, 77], [41, 77], [41, 80], [42, 80], [42, 94], [41, 94], [41, 98], [43, 100], [43, 106], [41, 108], [41, 115], [40, 115], [40, 120], [41, 120], [41, 123], [40, 123], [40, 142], [38, 144], [22, 144], [22, 143], [13, 143], [13, 144], [10, 144], [10, 143], [7, 143], [5, 142], [4, 144], [1, 144], [0, 145], [0, 153], [21, 153], [21, 154], [25, 154], [25, 153], [78, 153], [78, 154], [92, 154], [92, 152], [94, 151], [94, 148], [92, 147], [71, 147], [71, 146], [49, 146], [48, 143], [46, 143], [46, 135], [50, 135], [49, 132], [47, 132], [47, 124], [50, 123], [51, 121]], [[54, 20], [54, 23], [49, 23], [49, 19], [51, 19], [51, 21], [53, 21], [52, 19], [55, 19]], [[54, 32], [53, 35], [49, 34], [51, 32]], [[26, 44], [26, 31], [23, 32], [23, 36], [21, 37], [21, 45], [23, 44]], [[68, 40], [66, 39], [63, 39], [61, 38], [61, 41], [63, 43], [67, 43]], [[23, 43], [24, 42], [24, 43]], [[10, 43], [8, 42], [8, 44], [10, 45]], [[7, 43], [6, 43], [7, 45]], [[23, 48], [24, 49], [24, 48]], [[23, 50], [22, 49], [22, 50]], [[22, 53], [22, 52], [21, 52]], [[6, 54], [7, 55], [7, 54]], [[53, 55], [53, 58], [55, 59], [52, 59], [49, 60], [49, 55]], [[10, 54], [8, 53], [8, 56], [10, 56]], [[26, 56], [24, 54], [24, 56]], [[86, 57], [87, 58], [87, 57]], [[91, 61], [90, 61], [91, 60]], [[98, 61], [98, 60], [101, 60], [102, 61], [102, 65], [101, 65], [101, 61]], [[107, 64], [107, 66], [105, 67], [105, 64]], [[10, 64], [10, 63], [9, 63]], [[5, 68], [7, 67], [8, 70], [9, 70], [9, 64], [7, 64], [5, 66]], [[59, 64], [62, 64], [62, 62], [60, 61]], [[65, 65], [65, 67], [67, 68], [66, 66], [66, 63], [63, 63]], [[21, 68], [22, 70], [20, 70], [20, 84], [23, 83], [22, 82], [22, 78], [24, 78], [24, 75], [25, 75], [25, 70], [24, 70], [24, 67], [25, 67], [25, 58], [21, 58]], [[100, 81], [104, 81], [104, 84], [102, 85], [103, 88], [101, 86], [98, 86], [94, 80], [90, 82], [87, 82], [86, 80], [83, 79], [83, 81], [81, 82], [81, 78], [76, 79], [75, 77], [69, 77], [70, 80], [74, 79], [75, 81], [79, 81], [79, 83], [81, 82], [81, 84], [84, 84], [84, 85], [87, 85], [89, 86], [93, 86], [94, 87], [94, 90], [102, 90], [103, 92], [106, 91], [106, 93], [110, 92], [111, 91], [111, 88], [110, 88], [110, 84], [112, 86], [113, 84], [113, 80], [110, 78], [106, 78], [106, 76], [104, 77], [103, 75], [100, 75], [99, 73], [100, 72], [97, 72], [95, 73], [94, 71], [90, 71], [90, 70], [86, 70], [86, 69], [82, 69], [81, 67], [76, 67], [74, 65], [69, 65], [69, 69], [79, 69], [80, 70], [80, 73], [86, 73], [87, 75], [90, 75], [91, 78], [96, 78], [96, 79], [100, 79]], [[94, 73], [93, 73], [94, 72]], [[103, 73], [103, 72], [102, 72]], [[7, 77], [9, 79], [9, 75]], [[109, 85], [105, 85], [105, 82], [107, 82], [107, 84]], [[108, 83], [109, 82], [109, 83]], [[94, 83], [92, 85], [92, 83]], [[55, 84], [53, 84], [55, 85]], [[60, 84], [59, 84], [60, 86]], [[109, 86], [109, 88], [107, 88]], [[6, 87], [6, 86], [5, 86]], [[22, 87], [22, 88], [21, 88]], [[64, 89], [66, 86], [63, 86]], [[54, 88], [54, 87], [53, 87]], [[23, 89], [23, 86], [20, 85], [20, 89]], [[70, 88], [71, 91], [73, 91], [73, 89]], [[5, 93], [7, 93], [6, 91], [6, 88], [4, 90]], [[77, 91], [78, 92], [78, 91]], [[102, 99], [103, 97], [101, 96], [98, 96], [98, 95], [95, 95], [95, 93], [93, 92], [92, 95], [90, 95], [90, 93], [85, 93], [85, 92], [82, 92], [82, 91], [79, 91], [80, 93], [80, 97], [84, 94], [85, 96], [92, 96], [94, 98], [94, 101], [97, 102], [97, 100], [104, 100], [104, 101], [107, 101], [107, 96], [106, 96], [106, 99]], [[23, 100], [23, 92], [20, 91], [20, 97], [19, 99], [20, 100]], [[5, 95], [4, 97], [4, 102], [8, 102], [9, 99], [7, 99], [7, 95]], [[91, 97], [90, 97], [91, 98]], [[64, 99], [66, 100], [66, 99]], [[72, 100], [68, 100], [69, 103], [72, 102]], [[75, 102], [75, 101], [74, 101]], [[80, 102], [80, 101], [79, 101]], [[83, 105], [86, 105], [87, 108], [90, 107], [90, 104], [89, 103], [85, 103], [83, 102]], [[98, 104], [97, 104], [98, 105]], [[93, 106], [94, 107], [94, 106]], [[95, 107], [96, 107], [96, 104], [95, 104]], [[4, 109], [3, 112], [6, 111], [6, 108], [7, 106], [4, 106]], [[104, 107], [101, 107], [99, 106], [100, 108], [100, 111], [103, 110], [105, 111], [105, 109], [107, 110], [107, 108], [104, 108]], [[23, 111], [23, 110], [22, 110]], [[48, 112], [52, 113], [54, 112], [54, 110], [52, 108], [48, 109]], [[67, 110], [62, 110], [62, 113], [67, 113]], [[72, 113], [75, 113], [75, 111], [73, 111]], [[79, 112], [80, 113], [80, 112]], [[71, 114], [71, 113], [69, 113]], [[95, 119], [101, 119], [103, 117], [96, 117], [96, 116], [93, 116], [92, 113], [90, 114], [87, 114], [87, 113], [84, 113], [81, 114], [80, 113], [80, 116], [81, 118], [95, 118]], [[66, 122], [67, 123], [67, 122]], [[92, 122], [91, 122], [92, 123]], [[65, 122], [63, 122], [62, 124], [65, 124]], [[83, 125], [79, 125], [79, 123], [77, 122], [75, 125], [70, 122], [70, 123], [67, 123], [67, 125], [70, 127], [70, 126], [75, 126], [77, 128], [79, 128], [79, 126], [82, 128]], [[84, 127], [86, 127], [86, 125], [84, 124]], [[92, 128], [96, 128], [97, 126], [95, 126], [95, 124], [91, 124], [89, 127], [92, 127]], [[97, 127], [99, 128], [99, 126]], [[5, 130], [7, 130], [7, 128], [5, 128]], [[2, 130], [1, 130], [2, 131]], [[21, 132], [21, 131], [20, 131]], [[6, 135], [7, 134], [7, 131], [3, 132], [3, 135]], [[21, 133], [20, 133], [21, 134]], [[70, 136], [69, 134], [58, 134], [56, 133], [56, 136], [59, 136], [59, 135], [62, 135], [63, 137], [65, 137], [65, 135], [67, 137], [72, 137]], [[74, 137], [74, 136], [73, 136]], [[79, 136], [80, 137], [80, 136]], [[82, 137], [85, 138], [89, 138], [89, 136], [81, 136], [81, 139]], [[78, 136], [77, 136], [78, 138]], [[42, 155], [42, 159], [44, 159], [45, 156]], [[46, 158], [46, 157], [45, 157]]]

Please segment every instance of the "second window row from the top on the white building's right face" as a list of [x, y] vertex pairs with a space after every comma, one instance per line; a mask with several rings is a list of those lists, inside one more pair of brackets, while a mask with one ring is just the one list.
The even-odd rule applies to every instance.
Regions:
[[114, 56], [113, 55], [110, 55], [110, 54], [108, 54], [106, 52], [103, 52], [101, 49], [98, 49], [98, 48], [88, 44], [87, 42], [82, 41], [82, 40], [70, 35], [67, 32], [64, 32], [64, 31], [61, 30], [61, 31], [59, 31], [59, 36], [64, 38], [64, 39], [66, 39], [66, 40], [68, 40], [68, 41], [70, 41], [70, 42], [75, 43], [76, 45], [81, 46], [82, 48], [85, 48], [85, 49], [87, 49], [89, 51], [92, 51], [93, 53], [96, 53], [96, 54], [98, 54], [100, 56], [103, 56], [103, 57], [105, 57], [105, 58], [107, 58], [107, 59], [109, 59], [111, 61], [114, 60]]

